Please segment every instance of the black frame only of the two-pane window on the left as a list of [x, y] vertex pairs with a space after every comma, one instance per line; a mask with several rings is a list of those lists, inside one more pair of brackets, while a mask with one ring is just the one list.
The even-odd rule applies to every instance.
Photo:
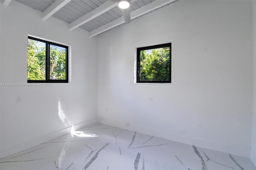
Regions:
[[[45, 69], [46, 80], [27, 80], [27, 82], [28, 83], [68, 83], [68, 46], [61, 45], [58, 43], [53, 43], [50, 41], [45, 41], [35, 37], [30, 37], [30, 36], [28, 36], [28, 39], [46, 43], [46, 52], [45, 52], [46, 53], [46, 69]], [[58, 46], [66, 49], [66, 79], [65, 80], [50, 79], [50, 45], [54, 45], [54, 46]]]

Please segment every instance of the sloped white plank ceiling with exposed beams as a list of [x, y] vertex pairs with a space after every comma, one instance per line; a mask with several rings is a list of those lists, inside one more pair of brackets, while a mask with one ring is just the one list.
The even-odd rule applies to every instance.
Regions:
[[[4, 0], [8, 6], [11, 1]], [[55, 17], [69, 24], [70, 29], [80, 27], [93, 37], [122, 24], [130, 19], [168, 6], [178, 0], [130, 0], [130, 7], [121, 10], [118, 0], [15, 0], [30, 8], [42, 12], [42, 20]]]

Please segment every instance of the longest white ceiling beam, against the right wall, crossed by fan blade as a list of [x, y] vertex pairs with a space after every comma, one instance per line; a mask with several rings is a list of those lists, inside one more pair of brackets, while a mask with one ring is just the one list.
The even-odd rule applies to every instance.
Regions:
[[[156, 10], [157, 8], [161, 8], [162, 6], [165, 6], [171, 2], [174, 2], [175, 0], [156, 0], [151, 2], [150, 4], [147, 4], [145, 6], [142, 6], [141, 8], [138, 8], [137, 10], [134, 10], [130, 13], [131, 20], [134, 18], [137, 18], [139, 16], [142, 16], [150, 11]], [[114, 21], [111, 21], [105, 25], [102, 25], [101, 27], [98, 27], [92, 31], [89, 32], [89, 37], [94, 37], [95, 35], [98, 35], [100, 33], [103, 33], [105, 31], [108, 31], [109, 29], [112, 29], [118, 25], [121, 25], [125, 23], [124, 17], [120, 17]]]

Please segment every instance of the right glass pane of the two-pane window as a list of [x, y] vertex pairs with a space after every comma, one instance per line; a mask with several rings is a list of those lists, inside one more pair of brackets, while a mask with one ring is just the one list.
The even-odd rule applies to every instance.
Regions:
[[66, 80], [66, 48], [50, 45], [50, 80]]

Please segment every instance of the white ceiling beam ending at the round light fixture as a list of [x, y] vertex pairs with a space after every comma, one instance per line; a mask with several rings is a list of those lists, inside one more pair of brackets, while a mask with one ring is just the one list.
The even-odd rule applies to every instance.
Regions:
[[94, 10], [88, 12], [84, 16], [78, 18], [77, 20], [73, 21], [72, 23], [69, 24], [70, 30], [73, 30], [84, 23], [100, 16], [101, 14], [107, 12], [108, 10], [111, 10], [112, 8], [116, 7], [118, 5], [117, 2], [112, 2], [112, 1], [106, 1], [104, 4], [101, 4]]

